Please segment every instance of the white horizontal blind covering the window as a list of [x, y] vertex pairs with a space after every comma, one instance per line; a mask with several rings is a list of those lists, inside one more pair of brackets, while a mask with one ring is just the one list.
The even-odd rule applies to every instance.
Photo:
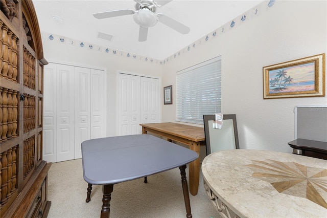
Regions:
[[177, 72], [177, 121], [203, 124], [203, 115], [220, 112], [221, 57]]

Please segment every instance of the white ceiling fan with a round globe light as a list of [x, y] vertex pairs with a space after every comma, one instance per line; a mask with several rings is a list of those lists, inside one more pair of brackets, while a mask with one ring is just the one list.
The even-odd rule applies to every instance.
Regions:
[[148, 37], [148, 28], [156, 25], [158, 21], [179, 33], [188, 34], [190, 32], [189, 27], [186, 27], [185, 25], [162, 13], [155, 13], [157, 8], [166, 5], [171, 1], [172, 0], [134, 0], [135, 10], [123, 9], [116, 11], [106, 11], [95, 13], [93, 16], [98, 19], [103, 19], [133, 14], [135, 23], [139, 25], [138, 41], [146, 41]]

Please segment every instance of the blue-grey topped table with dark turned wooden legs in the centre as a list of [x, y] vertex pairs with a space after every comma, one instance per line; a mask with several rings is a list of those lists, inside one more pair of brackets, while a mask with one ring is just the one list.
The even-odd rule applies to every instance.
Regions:
[[186, 217], [192, 217], [185, 169], [198, 158], [196, 152], [151, 135], [91, 139], [81, 147], [83, 177], [88, 183], [86, 202], [91, 200], [92, 184], [103, 185], [101, 217], [109, 217], [114, 184], [176, 167], [180, 169]]

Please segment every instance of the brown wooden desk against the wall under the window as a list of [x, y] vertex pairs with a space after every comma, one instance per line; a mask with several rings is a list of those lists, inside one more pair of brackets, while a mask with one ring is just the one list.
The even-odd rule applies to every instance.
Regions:
[[[142, 126], [142, 133], [147, 132], [165, 137], [168, 141], [176, 141], [188, 145], [191, 150], [197, 152], [200, 157], [200, 146], [205, 145], [204, 128], [184, 125], [179, 123], [148, 123], [139, 124]], [[200, 176], [200, 158], [190, 163], [189, 182], [190, 192], [197, 195]]]

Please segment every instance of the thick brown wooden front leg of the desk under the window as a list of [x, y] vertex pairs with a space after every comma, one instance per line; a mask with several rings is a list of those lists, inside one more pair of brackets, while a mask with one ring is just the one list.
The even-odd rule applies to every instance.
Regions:
[[190, 149], [198, 154], [198, 159], [190, 163], [189, 181], [190, 192], [193, 196], [198, 194], [200, 179], [200, 142], [190, 142]]

